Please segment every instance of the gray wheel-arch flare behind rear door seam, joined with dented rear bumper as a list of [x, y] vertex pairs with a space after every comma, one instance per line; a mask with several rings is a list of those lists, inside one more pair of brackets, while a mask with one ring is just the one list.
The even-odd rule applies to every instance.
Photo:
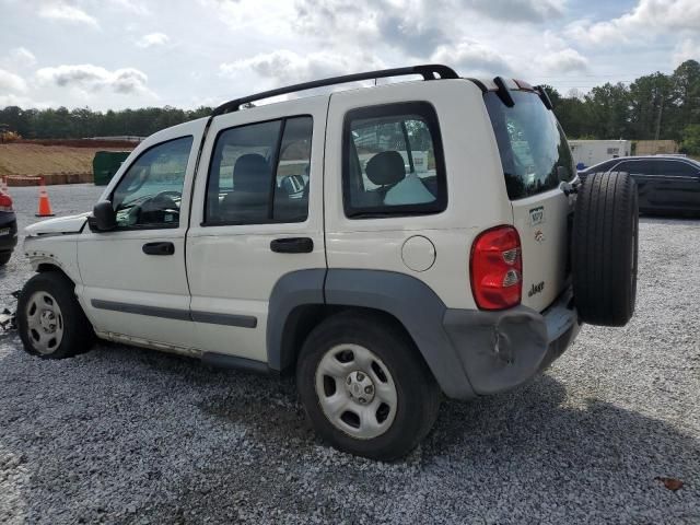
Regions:
[[396, 317], [447, 397], [469, 399], [521, 385], [573, 341], [580, 324], [568, 290], [541, 314], [448, 310], [422, 281], [404, 273], [330, 269], [326, 304], [362, 306]]

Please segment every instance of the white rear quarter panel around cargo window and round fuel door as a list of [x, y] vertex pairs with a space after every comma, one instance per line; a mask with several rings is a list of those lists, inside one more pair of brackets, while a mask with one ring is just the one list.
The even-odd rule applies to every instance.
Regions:
[[[348, 219], [341, 183], [346, 113], [406, 102], [428, 102], [438, 114], [447, 172], [447, 208], [430, 215]], [[472, 82], [405, 82], [334, 94], [324, 192], [329, 268], [407, 273], [425, 282], [447, 307], [476, 308], [469, 284], [471, 243], [483, 230], [511, 224], [513, 214], [483, 97]], [[435, 261], [424, 271], [409, 269], [401, 257], [404, 243], [415, 235], [428, 237], [435, 247]]]

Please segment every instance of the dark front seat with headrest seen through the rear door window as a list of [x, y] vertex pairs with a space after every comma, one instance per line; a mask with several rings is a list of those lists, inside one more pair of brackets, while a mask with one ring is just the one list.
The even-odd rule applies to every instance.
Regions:
[[221, 202], [224, 222], [255, 223], [268, 220], [272, 172], [262, 155], [241, 155], [233, 166], [233, 191]]

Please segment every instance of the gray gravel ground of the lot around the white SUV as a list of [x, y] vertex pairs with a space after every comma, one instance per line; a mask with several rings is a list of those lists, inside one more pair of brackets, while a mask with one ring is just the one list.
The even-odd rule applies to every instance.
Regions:
[[[49, 188], [57, 213], [100, 191]], [[33, 222], [36, 188], [12, 194]], [[319, 443], [290, 380], [114, 345], [40, 361], [0, 337], [0, 523], [698, 524], [699, 225], [643, 219], [631, 324], [584, 327], [516, 392], [445, 402], [394, 464]], [[0, 304], [30, 275], [15, 254]]]

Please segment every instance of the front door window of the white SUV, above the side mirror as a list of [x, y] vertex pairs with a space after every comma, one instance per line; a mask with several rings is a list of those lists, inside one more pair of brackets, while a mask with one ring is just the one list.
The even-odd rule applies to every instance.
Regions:
[[192, 137], [163, 142], [133, 162], [112, 194], [117, 228], [177, 228]]

